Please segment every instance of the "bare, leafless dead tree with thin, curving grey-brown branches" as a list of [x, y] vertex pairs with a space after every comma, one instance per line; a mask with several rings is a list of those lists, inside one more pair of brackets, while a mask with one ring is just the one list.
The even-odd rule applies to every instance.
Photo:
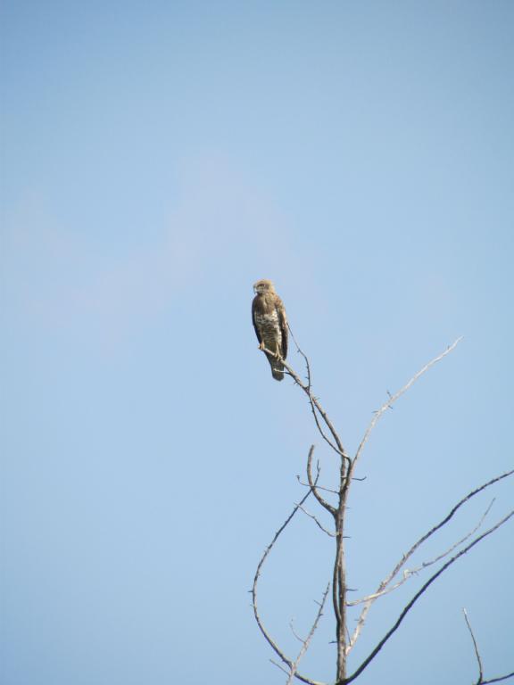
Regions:
[[[411, 545], [410, 549], [408, 549], [405, 553], [402, 554], [402, 557], [400, 557], [398, 563], [394, 565], [392, 571], [386, 576], [386, 578], [384, 578], [381, 582], [378, 583], [377, 590], [375, 592], [366, 597], [362, 597], [353, 601], [349, 600], [349, 590], [346, 584], [346, 563], [344, 546], [345, 517], [347, 512], [348, 495], [352, 486], [352, 482], [354, 480], [358, 480], [355, 476], [355, 469], [361, 458], [362, 451], [364, 450], [366, 443], [369, 441], [369, 436], [372, 433], [375, 426], [377, 425], [377, 422], [381, 417], [384, 416], [387, 409], [391, 409], [393, 407], [394, 402], [396, 402], [396, 400], [402, 397], [402, 395], [410, 389], [410, 386], [419, 379], [419, 376], [425, 374], [429, 368], [433, 367], [438, 361], [444, 359], [446, 355], [448, 355], [452, 350], [454, 350], [457, 344], [460, 342], [460, 340], [461, 339], [459, 338], [458, 340], [453, 342], [452, 345], [450, 345], [450, 347], [448, 347], [444, 352], [435, 357], [435, 359], [429, 361], [424, 367], [422, 367], [418, 371], [417, 374], [412, 376], [410, 378], [410, 381], [407, 384], [403, 385], [403, 387], [398, 392], [395, 392], [394, 394], [388, 393], [388, 398], [386, 402], [380, 407], [380, 409], [374, 412], [373, 417], [369, 422], [368, 428], [366, 429], [366, 432], [364, 433], [361, 439], [359, 447], [357, 448], [355, 454], [352, 457], [344, 449], [343, 442], [339, 434], [337, 433], [335, 426], [333, 425], [330, 418], [327, 416], [327, 411], [321, 406], [321, 404], [319, 403], [319, 399], [315, 397], [312, 393], [311, 365], [307, 356], [303, 353], [303, 351], [298, 347], [296, 343], [297, 350], [302, 355], [303, 360], [305, 362], [305, 380], [298, 376], [294, 369], [288, 363], [286, 363], [284, 359], [279, 358], [280, 361], [284, 364], [286, 374], [291, 376], [291, 378], [293, 378], [294, 380], [294, 384], [301, 388], [303, 392], [306, 394], [307, 399], [309, 401], [309, 405], [311, 407], [311, 413], [312, 417], [314, 418], [316, 427], [323, 440], [327, 442], [330, 449], [336, 453], [337, 459], [339, 461], [339, 478], [338, 483], [336, 484], [336, 488], [328, 489], [325, 487], [321, 487], [319, 485], [319, 462], [315, 466], [313, 465], [314, 445], [311, 446], [311, 449], [309, 450], [309, 454], [307, 457], [307, 482], [302, 483], [307, 488], [307, 491], [305, 492], [303, 499], [301, 499], [301, 501], [294, 506], [293, 511], [287, 517], [284, 524], [282, 524], [278, 531], [275, 533], [273, 540], [269, 543], [269, 546], [264, 551], [264, 554], [261, 557], [261, 561], [257, 566], [257, 570], [255, 572], [255, 576], [253, 579], [252, 598], [253, 613], [255, 616], [255, 620], [259, 626], [259, 629], [261, 630], [262, 635], [268, 641], [270, 647], [274, 650], [275, 654], [278, 656], [278, 660], [272, 660], [272, 662], [276, 664], [281, 670], [283, 670], [284, 673], [286, 673], [287, 685], [290, 685], [290, 683], [292, 683], [294, 680], [308, 683], [308, 685], [327, 685], [327, 683], [316, 681], [313, 678], [301, 673], [298, 669], [302, 657], [311, 645], [311, 639], [314, 632], [316, 631], [316, 628], [318, 627], [321, 615], [323, 615], [327, 595], [330, 591], [330, 585], [332, 589], [332, 607], [336, 620], [335, 642], [337, 656], [335, 685], [347, 685], [347, 683], [355, 681], [361, 675], [361, 673], [368, 667], [368, 665], [375, 659], [380, 650], [386, 645], [386, 642], [391, 638], [394, 632], [399, 629], [403, 619], [410, 612], [410, 609], [414, 607], [418, 599], [427, 592], [428, 588], [432, 585], [432, 583], [435, 582], [437, 578], [439, 578], [439, 576], [444, 574], [444, 572], [458, 559], [466, 555], [470, 549], [475, 547], [479, 542], [483, 541], [487, 536], [491, 535], [493, 532], [498, 530], [500, 526], [506, 524], [507, 521], [509, 521], [509, 519], [512, 516], [514, 516], [514, 510], [512, 510], [507, 516], [504, 516], [502, 519], [500, 519], [484, 531], [482, 530], [482, 528], [485, 521], [485, 516], [487, 516], [489, 509], [491, 508], [491, 506], [489, 506], [489, 508], [486, 509], [484, 515], [482, 516], [478, 524], [473, 528], [473, 530], [469, 531], [468, 534], [465, 535], [461, 540], [456, 541], [454, 544], [452, 544], [452, 546], [449, 549], [443, 550], [435, 558], [428, 559], [416, 568], [407, 568], [406, 566], [407, 562], [409, 561], [410, 557], [412, 557], [414, 552], [419, 551], [419, 549], [422, 548], [423, 544], [429, 538], [431, 538], [436, 532], [440, 531], [446, 524], [448, 524], [452, 520], [452, 517], [457, 513], [457, 511], [461, 507], [464, 507], [471, 499], [476, 497], [478, 493], [485, 491], [487, 488], [492, 487], [495, 483], [499, 483], [504, 478], [508, 478], [510, 475], [514, 474], [513, 469], [505, 474], [498, 475], [492, 478], [487, 483], [482, 483], [475, 490], [468, 492], [468, 494], [466, 494], [458, 502], [456, 502], [456, 504], [450, 509], [446, 516], [442, 518], [441, 521], [439, 521], [430, 530], [421, 535], [419, 539]], [[263, 352], [267, 353], [268, 355], [274, 355], [272, 351], [266, 349], [264, 349]], [[321, 508], [324, 508], [332, 517], [334, 521], [333, 530], [328, 530], [326, 526], [321, 524], [318, 516], [311, 514], [311, 512], [307, 511], [307, 509], [303, 507], [305, 501], [311, 495], [314, 497], [314, 499], [316, 499], [318, 505]], [[335, 499], [334, 503], [329, 501], [329, 498], [331, 497]], [[278, 541], [278, 537], [286, 529], [286, 526], [291, 522], [294, 515], [298, 511], [303, 511], [307, 516], [310, 516], [319, 526], [319, 529], [321, 531], [327, 533], [327, 535], [333, 538], [335, 549], [331, 582], [328, 583], [327, 589], [323, 593], [322, 598], [319, 602], [319, 611], [312, 623], [311, 631], [309, 632], [306, 638], [301, 638], [300, 636], [296, 635], [296, 637], [300, 640], [302, 647], [300, 648], [297, 656], [293, 657], [286, 655], [284, 650], [278, 646], [277, 642], [271, 638], [268, 629], [264, 626], [258, 607], [257, 590], [262, 567], [269, 556], [269, 552], [271, 551], [271, 549], [273, 549], [274, 545]], [[413, 594], [413, 596], [410, 598], [410, 601], [407, 602], [407, 604], [402, 608], [400, 615], [396, 618], [394, 623], [392, 623], [391, 627], [386, 632], [384, 637], [378, 641], [375, 648], [371, 649], [369, 655], [361, 661], [361, 664], [359, 664], [357, 668], [355, 668], [352, 671], [352, 673], [348, 673], [348, 656], [351, 653], [352, 648], [355, 646], [357, 640], [359, 640], [361, 636], [361, 632], [368, 618], [369, 610], [373, 606], [373, 604], [379, 598], [384, 597], [386, 594], [393, 592], [394, 590], [399, 588], [405, 582], [408, 582], [413, 575], [419, 574], [419, 572], [421, 571], [425, 571], [430, 566], [436, 567], [435, 572], [431, 574], [427, 578], [427, 581], [424, 582], [423, 585], [419, 588], [419, 590]], [[357, 623], [352, 632], [350, 631], [349, 626], [347, 624], [347, 609], [349, 607], [361, 607], [361, 613], [357, 619]], [[470, 632], [473, 640], [475, 654], [477, 656], [479, 674], [475, 685], [485, 685], [485, 683], [504, 681], [508, 678], [513, 677], [514, 672], [502, 675], [497, 678], [493, 678], [491, 680], [485, 680], [482, 668], [482, 661], [478, 652], [477, 641], [471, 629], [471, 625], [468, 621], [468, 615], [466, 613], [465, 619], [468, 625], [468, 631]]]

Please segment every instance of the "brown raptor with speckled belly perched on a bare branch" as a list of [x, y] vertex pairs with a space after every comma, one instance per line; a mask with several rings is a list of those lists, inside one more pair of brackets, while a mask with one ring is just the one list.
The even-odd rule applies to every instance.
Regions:
[[282, 359], [287, 356], [287, 318], [282, 300], [275, 293], [271, 281], [263, 278], [253, 285], [255, 297], [252, 302], [252, 321], [255, 334], [261, 350], [266, 348], [274, 354], [266, 352], [271, 374], [276, 381], [284, 379], [284, 365], [275, 356]]

